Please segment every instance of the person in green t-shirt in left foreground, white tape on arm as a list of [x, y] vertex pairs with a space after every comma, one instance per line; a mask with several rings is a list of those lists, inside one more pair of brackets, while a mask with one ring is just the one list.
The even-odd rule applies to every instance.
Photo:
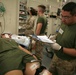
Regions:
[[10, 35], [1, 37], [0, 75], [51, 75], [45, 68], [38, 72], [41, 67], [38, 59], [11, 39]]

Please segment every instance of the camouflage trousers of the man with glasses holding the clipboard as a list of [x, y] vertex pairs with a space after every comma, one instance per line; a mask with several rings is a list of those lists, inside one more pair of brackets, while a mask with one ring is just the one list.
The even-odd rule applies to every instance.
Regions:
[[76, 59], [67, 61], [54, 55], [49, 71], [53, 75], [74, 75], [76, 71]]

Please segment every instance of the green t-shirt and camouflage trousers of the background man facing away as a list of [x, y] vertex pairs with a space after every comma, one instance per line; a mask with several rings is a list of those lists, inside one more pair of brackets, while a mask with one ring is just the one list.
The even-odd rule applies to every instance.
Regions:
[[[37, 19], [37, 25], [38, 23], [42, 23], [42, 28], [40, 31], [39, 35], [44, 35], [45, 34], [45, 30], [47, 27], [47, 19], [45, 16], [39, 16]], [[37, 26], [36, 26], [37, 27]], [[36, 34], [36, 33], [35, 33]], [[35, 49], [35, 54], [39, 59], [42, 59], [42, 52], [43, 51], [43, 43], [40, 41], [36, 41], [36, 49]]]

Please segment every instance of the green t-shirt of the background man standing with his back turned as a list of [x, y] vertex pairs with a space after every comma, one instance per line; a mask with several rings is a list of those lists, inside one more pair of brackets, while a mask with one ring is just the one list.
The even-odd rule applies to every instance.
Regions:
[[45, 16], [38, 17], [37, 24], [38, 23], [42, 23], [42, 28], [41, 28], [40, 34], [44, 34], [45, 30], [46, 30], [46, 27], [47, 27], [47, 19], [46, 19], [46, 17]]

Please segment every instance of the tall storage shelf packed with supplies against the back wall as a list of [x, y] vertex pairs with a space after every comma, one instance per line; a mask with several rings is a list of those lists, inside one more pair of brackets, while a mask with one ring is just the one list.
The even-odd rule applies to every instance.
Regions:
[[19, 35], [25, 34], [26, 19], [27, 19], [26, 4], [24, 1], [20, 1], [20, 4], [19, 4], [19, 26], [18, 26], [18, 34]]

